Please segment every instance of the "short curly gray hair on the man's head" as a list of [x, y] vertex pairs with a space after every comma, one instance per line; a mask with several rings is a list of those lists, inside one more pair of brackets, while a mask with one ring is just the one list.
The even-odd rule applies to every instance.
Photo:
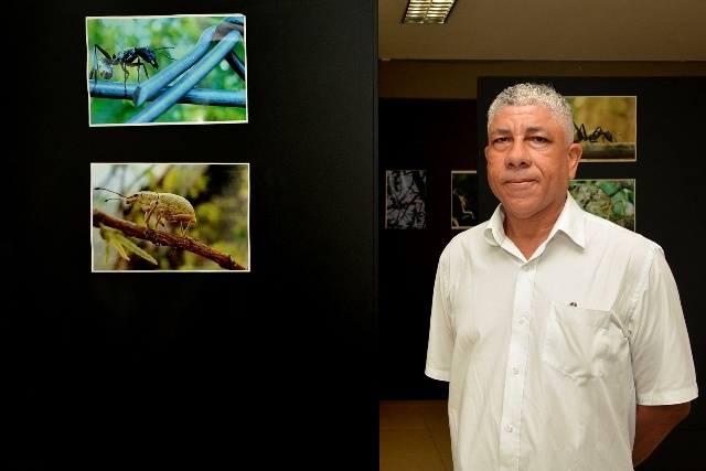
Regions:
[[488, 108], [488, 127], [501, 108], [506, 106], [536, 105], [547, 108], [564, 128], [567, 143], [574, 142], [574, 116], [571, 105], [554, 87], [544, 84], [517, 84], [502, 90]]

